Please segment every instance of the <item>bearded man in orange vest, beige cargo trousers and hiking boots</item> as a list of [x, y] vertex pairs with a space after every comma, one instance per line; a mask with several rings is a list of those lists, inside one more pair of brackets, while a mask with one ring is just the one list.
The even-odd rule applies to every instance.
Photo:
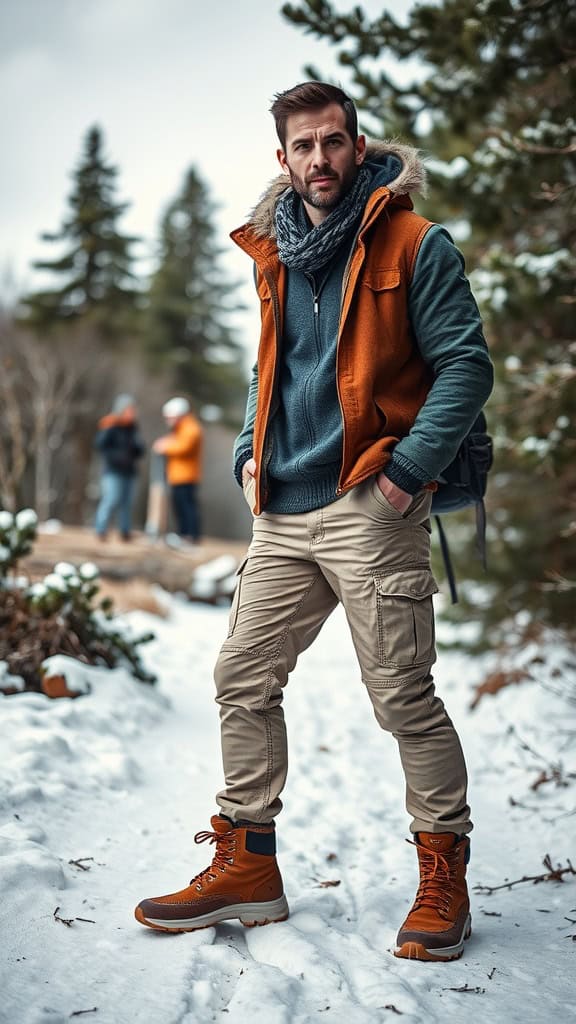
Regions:
[[233, 233], [256, 266], [262, 329], [235, 447], [253, 540], [216, 666], [225, 787], [213, 831], [197, 836], [216, 853], [136, 916], [186, 931], [287, 915], [274, 830], [282, 688], [341, 601], [376, 719], [400, 746], [420, 866], [395, 952], [453, 959], [470, 931], [471, 822], [462, 751], [430, 675], [428, 516], [491, 365], [460, 254], [412, 212], [415, 152], [367, 145], [352, 100], [330, 85], [298, 85], [272, 113], [285, 176]]

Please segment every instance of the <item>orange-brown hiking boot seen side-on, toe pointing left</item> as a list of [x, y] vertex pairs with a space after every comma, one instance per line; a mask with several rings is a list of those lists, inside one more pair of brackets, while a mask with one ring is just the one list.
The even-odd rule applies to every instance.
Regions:
[[140, 925], [160, 932], [194, 932], [234, 919], [247, 928], [286, 920], [274, 825], [236, 825], [219, 814], [210, 823], [213, 831], [194, 837], [195, 843], [216, 844], [210, 866], [187, 889], [138, 903], [134, 913]]

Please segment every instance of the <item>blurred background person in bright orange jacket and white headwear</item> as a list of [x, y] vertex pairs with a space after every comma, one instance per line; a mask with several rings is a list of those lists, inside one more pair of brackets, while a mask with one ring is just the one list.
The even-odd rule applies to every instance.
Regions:
[[162, 415], [170, 433], [159, 437], [153, 451], [166, 457], [166, 479], [178, 536], [196, 543], [200, 540], [198, 484], [202, 477], [202, 426], [188, 398], [170, 398], [162, 407]]

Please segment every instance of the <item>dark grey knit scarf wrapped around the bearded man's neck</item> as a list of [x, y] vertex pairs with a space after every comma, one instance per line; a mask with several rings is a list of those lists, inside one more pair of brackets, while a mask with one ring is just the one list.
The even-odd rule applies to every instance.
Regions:
[[298, 217], [300, 197], [288, 188], [276, 204], [278, 255], [292, 270], [314, 273], [331, 259], [353, 227], [360, 221], [370, 190], [372, 175], [361, 167], [348, 193], [321, 224], [305, 230]]

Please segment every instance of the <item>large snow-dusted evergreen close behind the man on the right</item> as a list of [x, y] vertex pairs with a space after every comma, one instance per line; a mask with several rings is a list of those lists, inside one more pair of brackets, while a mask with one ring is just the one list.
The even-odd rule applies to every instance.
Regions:
[[[496, 467], [489, 577], [461, 587], [460, 613], [493, 643], [542, 625], [574, 639], [576, 5], [444, 0], [405, 26], [325, 0], [283, 12], [338, 48], [369, 128], [434, 154], [421, 212], [453, 225], [472, 268], [497, 374]], [[421, 66], [405, 83], [394, 61], [408, 58]], [[474, 564], [460, 560], [468, 577]]]

